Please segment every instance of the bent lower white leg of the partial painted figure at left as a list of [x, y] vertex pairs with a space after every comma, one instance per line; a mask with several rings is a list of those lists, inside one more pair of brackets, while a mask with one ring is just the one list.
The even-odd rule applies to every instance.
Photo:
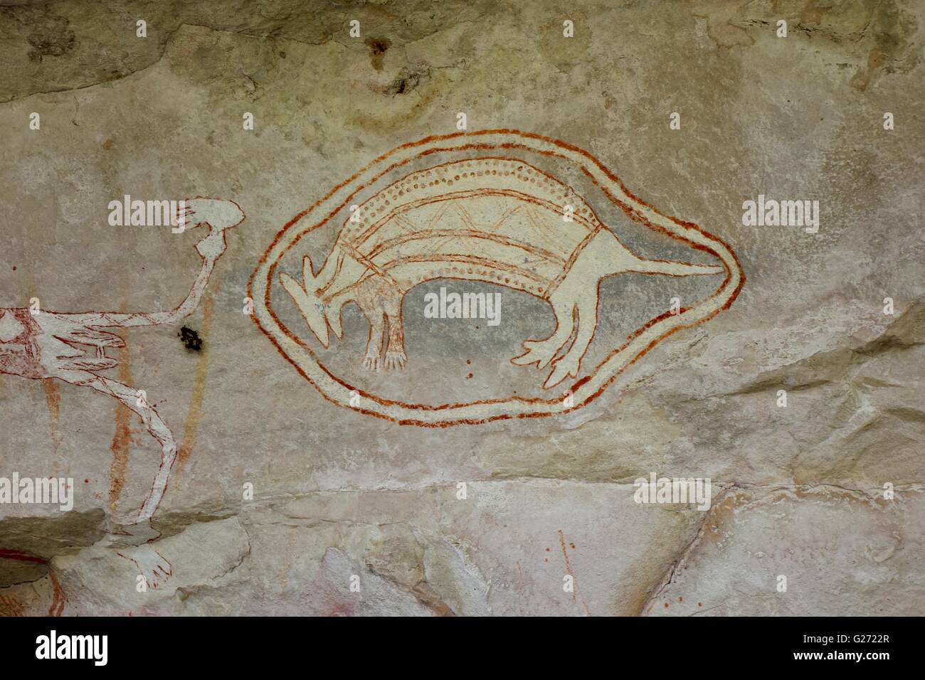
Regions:
[[142, 504], [142, 510], [135, 521], [136, 524], [147, 522], [151, 519], [161, 499], [164, 498], [170, 468], [173, 467], [174, 462], [177, 460], [177, 442], [174, 441], [170, 428], [154, 410], [154, 406], [151, 406], [144, 399], [144, 395], [137, 389], [130, 388], [117, 380], [97, 376], [88, 371], [61, 371], [56, 373], [55, 377], [74, 385], [91, 387], [125, 404], [142, 418], [142, 423], [147, 428], [148, 433], [161, 445], [161, 465], [157, 470], [157, 475], [154, 476], [151, 491]]

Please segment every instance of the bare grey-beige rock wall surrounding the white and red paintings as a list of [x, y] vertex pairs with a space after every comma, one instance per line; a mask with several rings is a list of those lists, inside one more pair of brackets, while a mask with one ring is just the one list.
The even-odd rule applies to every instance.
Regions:
[[[0, 2], [0, 305], [169, 310], [203, 229], [111, 226], [109, 203], [208, 195], [247, 215], [192, 315], [106, 349], [105, 375], [144, 389], [178, 443], [151, 542], [118, 536], [160, 460], [139, 416], [0, 375], [0, 477], [75, 486], [68, 512], [0, 503], [0, 614], [925, 613], [925, 6], [308, 5]], [[415, 427], [328, 402], [242, 313], [252, 272], [293, 216], [459, 112], [585, 149], [722, 239], [738, 298], [552, 417]], [[638, 252], [683, 257], [558, 171]], [[744, 225], [759, 194], [819, 201], [818, 233]], [[315, 269], [336, 237], [314, 233]], [[708, 279], [604, 280], [583, 370]], [[499, 326], [425, 318], [441, 285], [501, 291]], [[409, 291], [401, 375], [364, 372], [354, 305], [327, 350], [279, 310], [386, 398], [549, 396], [548, 371], [508, 361], [554, 327], [526, 293]], [[636, 502], [653, 473], [709, 478], [709, 509]]]

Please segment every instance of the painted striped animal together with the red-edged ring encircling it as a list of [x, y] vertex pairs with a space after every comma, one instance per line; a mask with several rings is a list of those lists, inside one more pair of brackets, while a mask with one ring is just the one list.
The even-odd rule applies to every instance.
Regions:
[[[625, 216], [684, 242], [694, 255], [709, 255], [709, 261], [633, 253], [598, 218], [593, 204], [527, 156], [579, 167]], [[422, 159], [424, 167], [402, 172]], [[305, 253], [301, 276], [279, 269], [280, 259], [299, 248], [305, 234], [331, 225], [337, 238], [319, 266]], [[629, 338], [614, 339], [600, 365], [583, 365], [598, 328], [600, 282], [629, 272], [712, 277], [717, 285], [706, 299], [650, 319]], [[327, 348], [337, 341], [332, 336], [343, 337], [343, 307], [355, 303], [369, 324], [364, 367], [413, 370], [404, 348], [401, 303], [415, 286], [437, 278], [497, 284], [549, 305], [553, 333], [524, 340], [524, 352], [510, 358], [514, 365], [547, 371], [543, 388], [549, 399], [510, 396], [437, 405], [383, 399], [333, 375], [316, 358], [313, 342], [301, 340], [275, 313], [277, 305], [294, 303], [314, 342]], [[376, 158], [290, 220], [254, 271], [251, 291], [260, 328], [328, 401], [402, 424], [450, 426], [580, 408], [660, 340], [729, 307], [744, 283], [729, 246], [637, 198], [593, 155], [519, 130], [486, 130], [428, 137]], [[557, 386], [571, 397], [568, 402]]]

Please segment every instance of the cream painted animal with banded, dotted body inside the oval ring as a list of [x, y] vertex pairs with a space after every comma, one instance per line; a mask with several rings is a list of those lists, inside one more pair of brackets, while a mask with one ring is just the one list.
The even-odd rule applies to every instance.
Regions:
[[690, 276], [725, 268], [637, 257], [568, 185], [524, 161], [487, 156], [395, 181], [356, 206], [317, 274], [305, 256], [302, 283], [286, 273], [280, 282], [326, 347], [328, 328], [341, 337], [340, 311], [356, 303], [370, 325], [364, 365], [374, 370], [383, 364], [387, 328], [384, 365], [405, 365], [401, 302], [424, 281], [479, 280], [535, 295], [552, 307], [556, 329], [546, 340], [524, 341], [526, 352], [512, 362], [551, 363], [550, 388], [578, 375], [597, 328], [600, 280], [634, 271]]

